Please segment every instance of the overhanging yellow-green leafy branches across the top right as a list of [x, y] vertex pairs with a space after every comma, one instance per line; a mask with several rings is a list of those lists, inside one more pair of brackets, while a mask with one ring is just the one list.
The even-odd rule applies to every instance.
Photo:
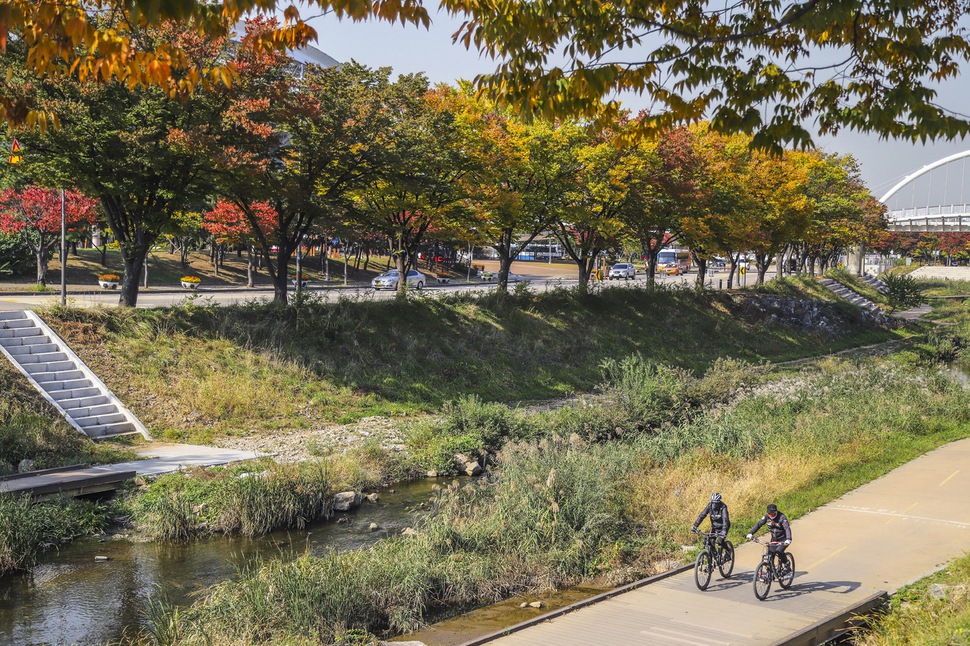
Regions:
[[617, 94], [644, 95], [640, 134], [709, 119], [780, 153], [843, 128], [954, 139], [970, 119], [936, 101], [970, 55], [955, 0], [618, 3], [442, 0], [457, 42], [498, 60], [478, 78], [492, 96], [543, 116], [612, 123]]

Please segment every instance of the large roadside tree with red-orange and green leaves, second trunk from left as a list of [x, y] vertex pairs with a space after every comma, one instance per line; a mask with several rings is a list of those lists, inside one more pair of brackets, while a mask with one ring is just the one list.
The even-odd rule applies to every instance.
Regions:
[[[249, 25], [254, 35], [272, 28], [272, 21]], [[299, 245], [344, 219], [348, 196], [383, 168], [380, 160], [393, 148], [395, 84], [388, 68], [308, 65], [296, 75], [287, 57], [249, 50], [240, 52], [237, 68], [215, 158], [218, 191], [245, 214], [274, 299], [285, 303]], [[252, 210], [264, 202], [276, 213], [269, 232]]]

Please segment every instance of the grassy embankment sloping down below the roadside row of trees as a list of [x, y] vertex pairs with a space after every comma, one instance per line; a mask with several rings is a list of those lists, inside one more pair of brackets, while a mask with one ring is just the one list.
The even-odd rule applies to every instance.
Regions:
[[205, 442], [435, 412], [467, 394], [508, 402], [589, 392], [604, 359], [633, 353], [704, 370], [718, 357], [777, 361], [897, 336], [844, 312], [829, 336], [747, 318], [730, 295], [610, 289], [72, 309], [48, 319], [155, 435]]

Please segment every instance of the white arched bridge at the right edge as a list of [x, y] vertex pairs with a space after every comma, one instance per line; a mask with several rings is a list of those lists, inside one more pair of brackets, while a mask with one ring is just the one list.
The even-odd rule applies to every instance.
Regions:
[[[944, 157], [910, 173], [889, 189], [879, 199], [886, 205], [889, 230], [970, 231], [970, 191], [965, 191], [967, 158], [970, 150]], [[957, 175], [957, 166], [960, 167], [958, 177], [951, 183], [951, 174]]]

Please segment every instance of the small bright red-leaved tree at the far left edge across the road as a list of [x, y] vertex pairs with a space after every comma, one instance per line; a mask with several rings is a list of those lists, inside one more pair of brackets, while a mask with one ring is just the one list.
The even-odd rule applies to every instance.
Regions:
[[[98, 200], [74, 191], [64, 193], [64, 219], [68, 231], [93, 225]], [[37, 259], [37, 282], [47, 284], [47, 263], [61, 235], [60, 191], [30, 186], [0, 194], [0, 231], [21, 235]], [[63, 259], [62, 270], [63, 271]]]

